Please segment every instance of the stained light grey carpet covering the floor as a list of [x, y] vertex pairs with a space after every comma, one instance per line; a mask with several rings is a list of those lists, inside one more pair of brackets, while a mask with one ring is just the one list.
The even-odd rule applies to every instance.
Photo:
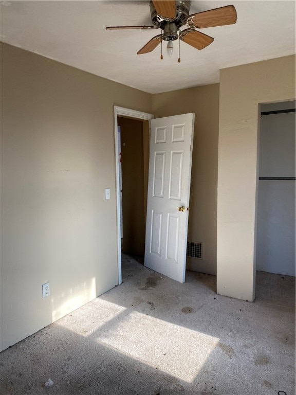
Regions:
[[294, 395], [295, 278], [257, 272], [251, 303], [214, 276], [122, 266], [120, 286], [0, 354], [2, 395]]

